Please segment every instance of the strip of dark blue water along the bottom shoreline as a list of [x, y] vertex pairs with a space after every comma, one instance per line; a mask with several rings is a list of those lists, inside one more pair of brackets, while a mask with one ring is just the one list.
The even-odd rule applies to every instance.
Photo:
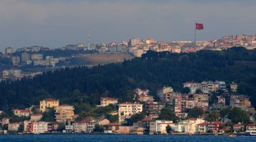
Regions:
[[0, 141], [245, 141], [256, 137], [228, 137], [215, 135], [0, 135]]

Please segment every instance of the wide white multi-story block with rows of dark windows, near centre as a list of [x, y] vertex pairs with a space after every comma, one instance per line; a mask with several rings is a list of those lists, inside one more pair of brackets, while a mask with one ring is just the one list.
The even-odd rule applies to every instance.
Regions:
[[123, 102], [119, 104], [119, 122], [125, 120], [125, 118], [130, 118], [131, 115], [142, 112], [142, 104]]

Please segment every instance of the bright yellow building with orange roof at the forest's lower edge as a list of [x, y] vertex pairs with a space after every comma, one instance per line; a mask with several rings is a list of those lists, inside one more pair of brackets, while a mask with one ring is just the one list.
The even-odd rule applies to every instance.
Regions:
[[47, 98], [40, 101], [40, 112], [45, 112], [47, 108], [56, 108], [59, 106], [59, 100], [53, 98]]

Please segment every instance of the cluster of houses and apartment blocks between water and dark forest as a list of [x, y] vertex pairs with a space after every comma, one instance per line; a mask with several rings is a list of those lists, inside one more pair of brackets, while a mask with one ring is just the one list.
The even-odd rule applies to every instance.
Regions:
[[[251, 106], [248, 96], [230, 94], [236, 93], [238, 85], [236, 83], [226, 84], [224, 81], [202, 81], [185, 82], [184, 88], [189, 88], [188, 94], [174, 92], [172, 87], [162, 87], [158, 90], [157, 96], [159, 102], [156, 102], [154, 96], [150, 95], [150, 90], [136, 88], [134, 90], [133, 102], [119, 102], [118, 98], [100, 98], [100, 104], [97, 106], [106, 107], [110, 104], [117, 106], [118, 122], [110, 122], [106, 118], [95, 118], [94, 120], [76, 121], [78, 117], [74, 113], [75, 107], [69, 104], [60, 104], [59, 100], [48, 98], [39, 102], [39, 114], [32, 114], [32, 107], [24, 110], [12, 110], [15, 116], [30, 116], [30, 120], [24, 122], [9, 122], [9, 118], [3, 118], [1, 125], [8, 125], [8, 131], [21, 131], [23, 133], [94, 133], [97, 125], [102, 126], [101, 133], [121, 133], [121, 134], [166, 134], [167, 127], [170, 127], [172, 133], [176, 134], [206, 134], [206, 133], [225, 133], [230, 131], [227, 127], [228, 118], [219, 121], [208, 122], [205, 116], [199, 118], [187, 118], [187, 110], [191, 108], [202, 108], [203, 111], [220, 110], [229, 106], [230, 108], [238, 107], [250, 114], [252, 122], [254, 120], [255, 110]], [[210, 96], [214, 92], [222, 90], [224, 93], [217, 96], [218, 100], [210, 105]], [[47, 112], [49, 108], [55, 109], [55, 122], [42, 121], [42, 113]], [[159, 120], [161, 110], [169, 108], [176, 116], [179, 116], [177, 122], [172, 120]], [[127, 118], [134, 114], [146, 112], [143, 120], [134, 122], [132, 126], [127, 126]], [[0, 111], [4, 113], [3, 111]], [[22, 126], [22, 127], [21, 127]], [[59, 129], [60, 127], [63, 129]], [[20, 130], [22, 128], [22, 130]], [[236, 133], [244, 129], [255, 129], [256, 124], [245, 125], [242, 122], [234, 124], [232, 130]], [[7, 131], [5, 131], [7, 133]]]

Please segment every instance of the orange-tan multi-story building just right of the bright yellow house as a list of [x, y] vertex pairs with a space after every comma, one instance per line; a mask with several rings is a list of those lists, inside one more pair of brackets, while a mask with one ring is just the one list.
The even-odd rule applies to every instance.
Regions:
[[55, 108], [55, 119], [57, 122], [71, 122], [74, 119], [74, 110], [73, 106], [68, 104], [62, 104], [61, 106], [57, 106]]

